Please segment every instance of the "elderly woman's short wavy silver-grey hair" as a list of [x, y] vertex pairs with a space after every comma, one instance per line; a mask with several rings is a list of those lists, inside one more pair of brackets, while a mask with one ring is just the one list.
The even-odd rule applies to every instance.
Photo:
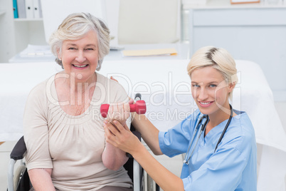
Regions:
[[63, 63], [58, 58], [58, 53], [61, 53], [63, 41], [78, 40], [92, 30], [97, 33], [99, 56], [97, 71], [99, 71], [103, 58], [110, 52], [110, 30], [103, 21], [88, 13], [70, 14], [58, 26], [58, 30], [51, 35], [49, 44], [52, 53], [56, 57], [55, 61], [63, 67]]

